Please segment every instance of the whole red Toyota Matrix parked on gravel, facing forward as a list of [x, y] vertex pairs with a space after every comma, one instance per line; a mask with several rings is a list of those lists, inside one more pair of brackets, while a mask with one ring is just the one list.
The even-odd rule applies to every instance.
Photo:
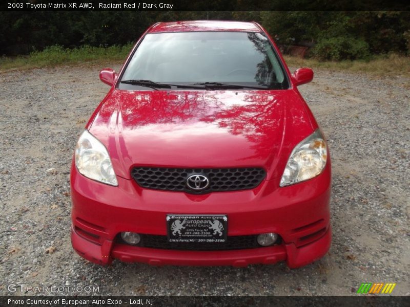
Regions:
[[76, 145], [71, 241], [82, 257], [247, 266], [322, 257], [331, 162], [288, 67], [256, 23], [157, 23]]

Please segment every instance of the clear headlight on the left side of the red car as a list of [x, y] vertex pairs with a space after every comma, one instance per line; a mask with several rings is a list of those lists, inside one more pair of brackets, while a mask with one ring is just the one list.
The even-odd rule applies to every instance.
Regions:
[[75, 146], [75, 166], [85, 177], [117, 186], [117, 178], [106, 147], [87, 130]]

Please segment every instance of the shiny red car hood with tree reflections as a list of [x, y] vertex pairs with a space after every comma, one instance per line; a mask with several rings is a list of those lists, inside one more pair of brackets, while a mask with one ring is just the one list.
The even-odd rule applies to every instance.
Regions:
[[88, 128], [107, 147], [117, 176], [127, 179], [135, 165], [260, 166], [267, 179], [276, 178], [313, 131], [293, 90], [113, 90]]

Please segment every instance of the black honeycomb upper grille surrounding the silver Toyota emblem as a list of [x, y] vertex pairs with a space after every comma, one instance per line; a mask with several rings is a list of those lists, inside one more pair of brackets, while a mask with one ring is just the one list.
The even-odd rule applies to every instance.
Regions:
[[[193, 174], [208, 177], [209, 186], [201, 191], [190, 189], [187, 186], [187, 179]], [[135, 167], [131, 171], [131, 176], [143, 188], [203, 194], [253, 189], [265, 178], [266, 172], [260, 167], [199, 169]]]

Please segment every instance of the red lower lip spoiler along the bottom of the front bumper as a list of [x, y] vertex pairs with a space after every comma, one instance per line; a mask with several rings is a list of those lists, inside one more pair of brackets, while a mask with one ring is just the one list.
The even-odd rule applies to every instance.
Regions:
[[91, 244], [71, 229], [71, 242], [75, 251], [87, 260], [100, 265], [109, 265], [112, 260], [145, 262], [153, 266], [233, 266], [246, 267], [252, 264], [275, 264], [286, 260], [290, 268], [299, 268], [323, 257], [332, 240], [331, 227], [315, 242], [297, 248], [295, 244], [234, 251], [177, 251], [115, 245], [105, 240], [101, 246]]

